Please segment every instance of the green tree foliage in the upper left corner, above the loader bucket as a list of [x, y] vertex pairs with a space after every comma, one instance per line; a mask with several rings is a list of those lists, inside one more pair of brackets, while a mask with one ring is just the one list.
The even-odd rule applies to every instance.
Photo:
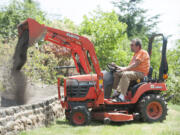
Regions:
[[27, 18], [34, 18], [40, 23], [46, 22], [45, 14], [33, 0], [12, 0], [0, 9], [0, 36], [4, 41], [17, 36], [17, 25]]

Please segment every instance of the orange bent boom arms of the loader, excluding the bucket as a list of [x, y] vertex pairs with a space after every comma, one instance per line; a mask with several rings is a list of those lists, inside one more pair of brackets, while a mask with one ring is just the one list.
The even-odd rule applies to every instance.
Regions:
[[[89, 53], [95, 72], [100, 74], [94, 46], [87, 38], [51, 27], [46, 27], [46, 29], [47, 33], [44, 40], [69, 48], [78, 72], [86, 74], [92, 72], [90, 61], [87, 56]], [[80, 69], [81, 66], [82, 69]]]

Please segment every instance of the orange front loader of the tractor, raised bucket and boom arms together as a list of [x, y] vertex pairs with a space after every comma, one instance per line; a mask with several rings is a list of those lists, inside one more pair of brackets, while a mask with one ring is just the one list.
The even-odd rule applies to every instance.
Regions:
[[31, 18], [18, 26], [19, 36], [25, 29], [29, 30], [29, 46], [44, 38], [45, 41], [69, 48], [79, 73], [89, 74], [94, 68], [98, 79], [103, 77], [94, 45], [86, 37], [39, 24]]

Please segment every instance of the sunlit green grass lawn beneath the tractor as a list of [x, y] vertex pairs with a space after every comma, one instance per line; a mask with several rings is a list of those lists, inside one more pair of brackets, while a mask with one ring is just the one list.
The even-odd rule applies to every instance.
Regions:
[[20, 135], [180, 135], [180, 106], [169, 105], [163, 123], [111, 123], [92, 122], [89, 126], [74, 127], [65, 120], [57, 120], [48, 128], [25, 131]]

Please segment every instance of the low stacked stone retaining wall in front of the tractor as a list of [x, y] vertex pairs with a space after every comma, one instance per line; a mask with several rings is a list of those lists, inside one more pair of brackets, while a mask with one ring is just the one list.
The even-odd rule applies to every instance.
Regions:
[[16, 135], [23, 130], [47, 126], [63, 116], [57, 97], [36, 104], [8, 107], [0, 110], [0, 135]]

